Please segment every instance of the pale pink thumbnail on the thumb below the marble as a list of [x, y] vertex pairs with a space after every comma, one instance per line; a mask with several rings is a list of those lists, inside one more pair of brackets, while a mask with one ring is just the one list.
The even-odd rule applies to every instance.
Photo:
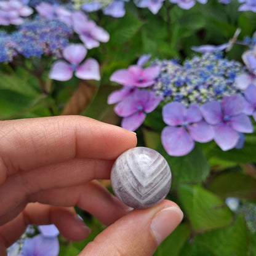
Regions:
[[151, 231], [160, 244], [183, 219], [183, 212], [178, 207], [168, 207], [155, 215], [151, 222]]

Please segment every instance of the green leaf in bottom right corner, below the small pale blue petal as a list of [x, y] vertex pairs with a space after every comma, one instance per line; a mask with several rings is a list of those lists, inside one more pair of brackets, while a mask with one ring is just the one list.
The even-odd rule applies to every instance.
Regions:
[[247, 232], [244, 216], [238, 215], [233, 225], [196, 236], [194, 252], [196, 247], [206, 247], [215, 256], [247, 256]]

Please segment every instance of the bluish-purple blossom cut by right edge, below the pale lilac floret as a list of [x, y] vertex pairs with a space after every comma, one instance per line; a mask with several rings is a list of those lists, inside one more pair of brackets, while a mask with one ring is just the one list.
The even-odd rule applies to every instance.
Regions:
[[252, 115], [256, 121], [256, 86], [250, 84], [246, 90], [244, 90], [244, 113], [247, 115]]

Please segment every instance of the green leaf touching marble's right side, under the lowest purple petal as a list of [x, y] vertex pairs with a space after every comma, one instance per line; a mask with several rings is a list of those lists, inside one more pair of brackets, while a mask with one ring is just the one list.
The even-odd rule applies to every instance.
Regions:
[[161, 145], [159, 145], [158, 151], [166, 158], [172, 175], [178, 183], [199, 183], [206, 180], [209, 175], [209, 164], [198, 145], [186, 156], [169, 156]]

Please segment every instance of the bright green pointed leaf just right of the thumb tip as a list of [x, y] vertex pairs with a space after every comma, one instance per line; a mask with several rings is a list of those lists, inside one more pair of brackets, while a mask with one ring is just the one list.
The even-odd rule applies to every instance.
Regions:
[[201, 186], [180, 185], [178, 196], [194, 231], [213, 230], [232, 223], [233, 215], [225, 202]]

